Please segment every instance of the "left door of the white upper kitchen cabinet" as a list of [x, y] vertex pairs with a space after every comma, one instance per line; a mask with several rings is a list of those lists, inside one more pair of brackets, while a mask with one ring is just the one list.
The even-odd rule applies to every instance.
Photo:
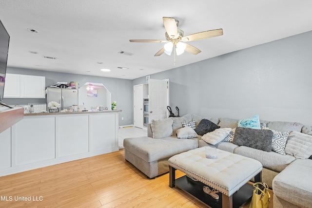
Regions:
[[20, 75], [6, 74], [4, 98], [20, 97]]

